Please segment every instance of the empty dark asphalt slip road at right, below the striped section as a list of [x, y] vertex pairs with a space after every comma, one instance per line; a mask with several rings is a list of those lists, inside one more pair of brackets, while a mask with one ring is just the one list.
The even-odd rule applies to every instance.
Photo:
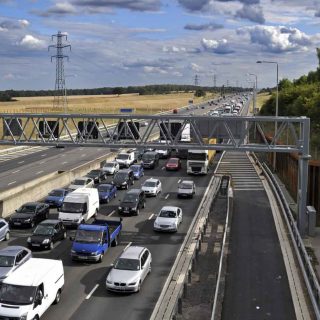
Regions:
[[222, 319], [296, 319], [266, 193], [235, 192], [233, 207]]

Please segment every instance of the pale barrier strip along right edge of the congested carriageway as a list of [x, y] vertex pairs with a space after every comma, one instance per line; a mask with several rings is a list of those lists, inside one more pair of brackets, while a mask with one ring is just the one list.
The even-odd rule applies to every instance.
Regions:
[[194, 270], [194, 262], [201, 249], [210, 206], [219, 185], [220, 177], [213, 176], [180, 247], [150, 320], [174, 319], [177, 313], [182, 313], [182, 297], [186, 293], [187, 283], [191, 282], [191, 272]]

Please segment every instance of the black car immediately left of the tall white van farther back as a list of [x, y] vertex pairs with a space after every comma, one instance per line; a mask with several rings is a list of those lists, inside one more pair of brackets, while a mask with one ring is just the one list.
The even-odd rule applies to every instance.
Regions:
[[33, 228], [40, 221], [48, 219], [49, 204], [28, 202], [16, 210], [9, 220], [10, 227], [29, 226]]

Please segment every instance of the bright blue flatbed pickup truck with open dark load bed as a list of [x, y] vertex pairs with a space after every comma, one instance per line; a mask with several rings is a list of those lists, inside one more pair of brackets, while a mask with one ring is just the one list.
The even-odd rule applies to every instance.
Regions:
[[71, 248], [72, 260], [101, 262], [111, 246], [118, 244], [122, 230], [120, 220], [95, 219], [92, 224], [80, 224]]

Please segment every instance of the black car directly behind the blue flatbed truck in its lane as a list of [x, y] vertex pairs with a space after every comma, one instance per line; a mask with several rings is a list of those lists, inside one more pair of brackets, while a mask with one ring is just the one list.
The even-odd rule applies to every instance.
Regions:
[[128, 213], [138, 215], [140, 209], [146, 206], [146, 196], [141, 189], [132, 189], [128, 191], [118, 207], [119, 214]]

